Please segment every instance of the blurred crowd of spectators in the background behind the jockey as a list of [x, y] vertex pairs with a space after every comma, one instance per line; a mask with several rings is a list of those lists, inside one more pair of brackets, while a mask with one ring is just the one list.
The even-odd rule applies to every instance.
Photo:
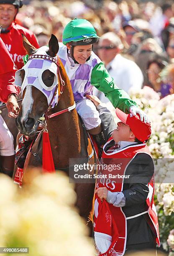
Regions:
[[[85, 18], [99, 42], [93, 51], [118, 87], [153, 88], [164, 97], [174, 90], [174, 3], [138, 0], [24, 0], [16, 20], [33, 31], [39, 46], [51, 33], [61, 42], [66, 24]], [[113, 69], [113, 70], [112, 70]]]

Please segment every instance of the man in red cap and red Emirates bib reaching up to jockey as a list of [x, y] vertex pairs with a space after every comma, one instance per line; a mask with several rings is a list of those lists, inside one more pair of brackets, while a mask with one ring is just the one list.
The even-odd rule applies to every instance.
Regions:
[[[116, 128], [111, 113], [100, 100], [92, 95], [88, 98], [99, 111], [107, 141], [103, 146], [101, 164], [110, 166], [107, 171], [102, 169], [99, 172], [101, 176], [95, 190], [97, 249], [101, 255], [122, 256], [150, 249], [156, 255], [156, 243], [160, 245], [160, 242], [154, 206], [154, 163], [146, 145], [151, 126], [141, 122], [139, 115], [125, 114], [116, 109], [121, 120]], [[107, 201], [107, 211], [104, 211], [103, 200]], [[105, 221], [111, 223], [110, 231], [104, 225]]]

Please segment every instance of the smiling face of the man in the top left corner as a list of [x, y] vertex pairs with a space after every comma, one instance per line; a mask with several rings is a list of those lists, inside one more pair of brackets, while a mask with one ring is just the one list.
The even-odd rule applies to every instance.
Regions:
[[0, 4], [0, 25], [8, 28], [13, 22], [18, 9], [14, 5]]

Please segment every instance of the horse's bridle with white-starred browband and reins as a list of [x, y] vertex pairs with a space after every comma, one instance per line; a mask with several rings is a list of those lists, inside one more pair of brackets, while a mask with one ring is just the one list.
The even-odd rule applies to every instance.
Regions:
[[[44, 115], [41, 117], [41, 118], [39, 118], [38, 119], [38, 121], [45, 121], [46, 122], [46, 120], [48, 120], [49, 118], [53, 118], [53, 117], [55, 117], [55, 116], [57, 116], [57, 115], [61, 115], [61, 114], [63, 114], [63, 113], [65, 113], [65, 112], [70, 112], [71, 110], [73, 110], [75, 107], [76, 107], [76, 103], [75, 103], [75, 101], [74, 101], [74, 105], [72, 105], [72, 106], [70, 106], [69, 108], [66, 108], [66, 109], [64, 109], [64, 110], [61, 110], [61, 111], [59, 111], [59, 112], [56, 112], [56, 113], [54, 113], [54, 114], [52, 114], [52, 115], [48, 115], [48, 112], [51, 110], [51, 105], [52, 105], [52, 103], [53, 103], [53, 100], [54, 100], [54, 97], [56, 96], [56, 94], [57, 94], [57, 91], [58, 91], [58, 102], [59, 102], [59, 100], [60, 100], [60, 97], [61, 97], [61, 94], [63, 93], [63, 91], [64, 91], [64, 86], [65, 86], [65, 82], [64, 82], [64, 80], [62, 79], [62, 77], [61, 77], [61, 74], [60, 74], [60, 63], [59, 63], [59, 58], [57, 57], [57, 60], [56, 59], [54, 59], [54, 58], [52, 58], [51, 56], [48, 56], [48, 55], [41, 55], [41, 54], [39, 54], [39, 55], [36, 55], [36, 54], [33, 54], [33, 55], [31, 55], [31, 56], [29, 56], [29, 58], [28, 58], [28, 60], [30, 60], [30, 59], [46, 59], [46, 60], [49, 60], [49, 61], [52, 61], [52, 62], [54, 62], [56, 65], [57, 65], [57, 77], [59, 78], [58, 79], [58, 81], [60, 81], [60, 87], [59, 87], [59, 82], [58, 82], [58, 84], [56, 85], [56, 89], [55, 89], [55, 92], [54, 92], [54, 95], [53, 95], [53, 97], [52, 97], [52, 99], [51, 99], [51, 102], [50, 102], [50, 104], [49, 104], [49, 107], [47, 108], [47, 110], [46, 110], [46, 113], [44, 113]], [[58, 103], [57, 102], [57, 103]]]

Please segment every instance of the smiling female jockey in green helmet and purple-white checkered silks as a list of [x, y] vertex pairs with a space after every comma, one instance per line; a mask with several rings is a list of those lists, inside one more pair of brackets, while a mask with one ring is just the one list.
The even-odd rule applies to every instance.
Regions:
[[136, 102], [125, 91], [115, 85], [105, 65], [92, 51], [97, 38], [95, 28], [88, 20], [75, 18], [64, 28], [63, 44], [59, 44], [58, 52], [72, 84], [77, 112], [86, 129], [94, 135], [101, 132], [99, 113], [94, 103], [87, 98], [87, 95], [92, 94], [93, 86], [104, 92], [115, 108], [133, 115], [139, 113], [141, 119], [149, 123], [146, 114], [136, 107]]

